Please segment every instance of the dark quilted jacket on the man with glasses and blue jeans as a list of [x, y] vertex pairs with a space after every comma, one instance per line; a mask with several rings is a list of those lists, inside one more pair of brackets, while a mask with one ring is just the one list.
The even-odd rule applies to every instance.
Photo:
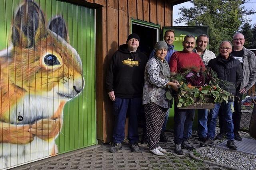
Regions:
[[220, 88], [236, 95], [236, 88], [240, 86], [243, 80], [243, 71], [240, 61], [234, 59], [230, 53], [228, 60], [218, 55], [218, 57], [209, 61], [208, 66], [218, 74], [220, 80], [229, 82], [228, 85], [220, 82]]

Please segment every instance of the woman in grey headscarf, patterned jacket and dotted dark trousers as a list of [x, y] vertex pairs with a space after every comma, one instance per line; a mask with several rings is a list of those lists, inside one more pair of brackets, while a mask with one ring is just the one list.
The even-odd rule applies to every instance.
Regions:
[[158, 143], [160, 133], [167, 109], [170, 107], [170, 102], [166, 98], [168, 86], [174, 90], [178, 89], [178, 82], [170, 81], [170, 68], [167, 63], [167, 44], [165, 41], [158, 41], [155, 46], [155, 54], [145, 68], [145, 84], [143, 88], [143, 104], [146, 116], [146, 131], [148, 138], [149, 150], [156, 154], [163, 156], [162, 149]]

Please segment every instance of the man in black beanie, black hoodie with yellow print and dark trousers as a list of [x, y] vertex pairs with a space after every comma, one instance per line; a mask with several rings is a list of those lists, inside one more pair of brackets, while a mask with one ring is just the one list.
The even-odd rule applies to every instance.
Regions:
[[115, 116], [113, 143], [110, 152], [122, 148], [126, 115], [128, 121], [128, 139], [132, 152], [141, 152], [137, 143], [137, 115], [142, 107], [144, 69], [147, 57], [138, 49], [140, 37], [136, 33], [128, 36], [126, 44], [120, 45], [112, 56], [106, 76], [106, 89], [113, 103]]

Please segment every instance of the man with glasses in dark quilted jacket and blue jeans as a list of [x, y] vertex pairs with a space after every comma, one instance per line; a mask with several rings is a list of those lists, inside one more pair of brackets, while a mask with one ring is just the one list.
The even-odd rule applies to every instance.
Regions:
[[[211, 59], [208, 66], [214, 70], [220, 80], [227, 81], [228, 84], [220, 84], [220, 88], [230, 92], [231, 94], [236, 94], [236, 88], [240, 86], [243, 80], [242, 66], [240, 62], [231, 54], [232, 45], [230, 41], [223, 41], [220, 44], [220, 54], [217, 58]], [[225, 115], [226, 127], [227, 127], [227, 147], [229, 149], [236, 149], [234, 143], [234, 124], [232, 121], [232, 106], [233, 102], [228, 103], [216, 103], [215, 107], [210, 110], [210, 119], [208, 119], [208, 139], [201, 143], [200, 145], [206, 147], [208, 145], [213, 145], [213, 138], [215, 135], [216, 119], [218, 117], [218, 112], [220, 106]]]

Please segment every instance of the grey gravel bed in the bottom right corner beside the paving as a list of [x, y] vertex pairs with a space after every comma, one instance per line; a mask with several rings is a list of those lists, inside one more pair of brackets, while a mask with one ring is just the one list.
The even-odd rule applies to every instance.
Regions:
[[199, 158], [240, 170], [255, 170], [256, 155], [209, 147], [198, 151]]

